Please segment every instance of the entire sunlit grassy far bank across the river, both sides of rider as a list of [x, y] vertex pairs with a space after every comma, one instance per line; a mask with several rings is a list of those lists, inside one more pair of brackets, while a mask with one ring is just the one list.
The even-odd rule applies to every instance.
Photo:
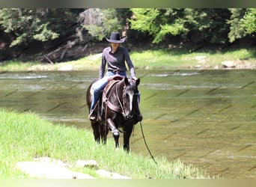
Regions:
[[[230, 49], [226, 51], [185, 49], [147, 50], [130, 52], [137, 69], [219, 69], [223, 61], [233, 62], [237, 68], [256, 68], [256, 48]], [[76, 61], [48, 64], [38, 62], [7, 61], [1, 63], [0, 71], [31, 70], [98, 70], [101, 55], [91, 55]]]

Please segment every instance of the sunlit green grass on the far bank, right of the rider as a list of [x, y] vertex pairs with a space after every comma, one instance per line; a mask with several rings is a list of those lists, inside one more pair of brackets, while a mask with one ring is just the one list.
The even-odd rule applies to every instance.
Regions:
[[155, 50], [132, 52], [131, 58], [135, 67], [141, 69], [193, 69], [222, 68], [222, 61], [235, 61], [241, 65], [256, 67], [255, 48], [232, 49], [226, 52], [186, 50]]

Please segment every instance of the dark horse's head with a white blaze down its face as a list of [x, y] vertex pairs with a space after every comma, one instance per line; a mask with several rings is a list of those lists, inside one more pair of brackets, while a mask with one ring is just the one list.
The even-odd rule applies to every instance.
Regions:
[[124, 117], [129, 120], [135, 117], [135, 114], [139, 113], [138, 110], [138, 85], [140, 79], [124, 78], [124, 90], [123, 90], [123, 105], [124, 105]]

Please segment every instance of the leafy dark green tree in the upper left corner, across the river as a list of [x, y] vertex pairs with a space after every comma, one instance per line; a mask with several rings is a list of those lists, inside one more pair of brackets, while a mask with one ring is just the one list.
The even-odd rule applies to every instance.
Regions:
[[1, 8], [0, 25], [13, 37], [10, 46], [32, 40], [54, 40], [76, 23], [76, 10], [48, 8]]

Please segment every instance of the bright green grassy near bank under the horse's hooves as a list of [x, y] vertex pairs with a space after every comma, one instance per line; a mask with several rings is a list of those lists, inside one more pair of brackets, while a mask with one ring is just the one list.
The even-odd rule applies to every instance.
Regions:
[[[133, 179], [210, 178], [205, 171], [192, 165], [184, 165], [179, 160], [168, 162], [162, 157], [155, 158], [158, 163], [156, 165], [150, 157], [127, 154], [122, 149], [115, 151], [112, 139], [106, 146], [97, 145], [92, 132], [71, 126], [53, 125], [37, 114], [19, 114], [0, 109], [0, 124], [1, 179], [28, 178], [16, 170], [15, 164], [32, 161], [36, 156], [49, 156], [70, 165], [74, 165], [78, 159], [94, 159], [101, 169]], [[72, 170], [97, 177], [93, 169]]]

